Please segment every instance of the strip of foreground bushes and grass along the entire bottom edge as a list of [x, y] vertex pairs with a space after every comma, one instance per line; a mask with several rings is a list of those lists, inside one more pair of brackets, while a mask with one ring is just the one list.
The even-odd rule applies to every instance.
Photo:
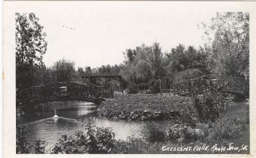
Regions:
[[[129, 137], [116, 140], [111, 128], [93, 126], [88, 122], [85, 131], [62, 135], [47, 153], [51, 154], [248, 154], [249, 120], [225, 119], [221, 122], [196, 123], [195, 127], [173, 124], [168, 131], [148, 126], [143, 138]], [[212, 140], [216, 140], [212, 142]], [[17, 127], [17, 154], [44, 154], [47, 143], [37, 140], [34, 145], [26, 141], [24, 127]], [[231, 143], [231, 144], [230, 144]], [[207, 147], [208, 146], [208, 147]], [[240, 150], [231, 150], [230, 146]], [[187, 148], [181, 150], [180, 148]], [[202, 147], [206, 148], [202, 149]], [[225, 150], [221, 147], [225, 147]], [[189, 149], [191, 148], [191, 149]], [[230, 148], [230, 150], [228, 150]]]

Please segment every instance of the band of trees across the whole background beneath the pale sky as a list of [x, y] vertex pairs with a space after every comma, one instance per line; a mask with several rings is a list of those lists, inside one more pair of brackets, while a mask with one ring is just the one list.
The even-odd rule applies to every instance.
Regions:
[[[34, 22], [34, 25], [32, 25]], [[29, 25], [29, 27], [28, 27]], [[160, 43], [141, 44], [124, 50], [124, 62], [115, 66], [75, 69], [75, 63], [61, 59], [47, 68], [42, 62], [47, 42], [35, 14], [16, 14], [16, 81], [17, 88], [50, 82], [80, 82], [91, 73], [119, 73], [122, 79], [103, 80], [106, 87], [127, 89], [129, 93], [143, 90], [159, 92], [171, 83], [203, 74], [228, 76], [249, 75], [249, 14], [216, 13], [211, 24], [200, 24], [206, 39], [204, 47], [179, 44], [163, 52]], [[188, 35], [189, 36], [189, 35]], [[198, 35], [201, 36], [201, 35]], [[40, 42], [38, 42], [40, 41]], [[121, 53], [121, 52], [120, 52]], [[39, 55], [38, 55], [39, 54]], [[84, 63], [86, 64], [86, 63]], [[96, 81], [95, 81], [96, 82]]]

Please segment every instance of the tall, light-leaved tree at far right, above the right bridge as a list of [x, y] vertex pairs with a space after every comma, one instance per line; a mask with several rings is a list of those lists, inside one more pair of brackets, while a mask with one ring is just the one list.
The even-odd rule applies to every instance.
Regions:
[[204, 24], [211, 42], [213, 73], [230, 76], [249, 75], [249, 14], [243, 12], [216, 13], [211, 24]]

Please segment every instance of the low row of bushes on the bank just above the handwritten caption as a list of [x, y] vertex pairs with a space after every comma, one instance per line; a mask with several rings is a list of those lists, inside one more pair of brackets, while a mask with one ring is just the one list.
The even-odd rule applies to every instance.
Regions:
[[211, 142], [212, 140], [227, 140], [230, 138], [239, 138], [248, 128], [247, 119], [226, 119], [221, 122], [198, 123], [196, 127], [176, 124], [170, 127], [166, 133], [166, 140], [178, 141], [180, 143], [189, 143], [195, 141]]

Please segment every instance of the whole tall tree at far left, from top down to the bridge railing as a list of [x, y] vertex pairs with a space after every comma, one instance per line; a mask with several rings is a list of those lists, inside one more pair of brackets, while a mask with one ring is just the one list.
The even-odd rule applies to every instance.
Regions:
[[[38, 75], [46, 73], [42, 57], [47, 49], [47, 41], [44, 27], [34, 13], [16, 13], [15, 25], [16, 86], [24, 89], [32, 86], [38, 80]], [[38, 73], [38, 69], [44, 73]]]

